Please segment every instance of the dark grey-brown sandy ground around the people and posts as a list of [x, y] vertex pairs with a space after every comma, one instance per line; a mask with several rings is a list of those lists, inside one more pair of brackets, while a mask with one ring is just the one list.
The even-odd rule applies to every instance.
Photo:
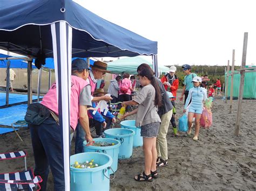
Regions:
[[[183, 103], [177, 101], [177, 118]], [[213, 125], [200, 129], [200, 141], [182, 134], [173, 136], [170, 125], [167, 141], [169, 166], [159, 169], [160, 177], [153, 182], [136, 182], [133, 176], [143, 171], [142, 147], [134, 148], [130, 159], [120, 160], [111, 190], [255, 190], [256, 189], [256, 100], [242, 102], [239, 136], [234, 136], [237, 101], [228, 114], [229, 104], [215, 100], [212, 108]], [[134, 116], [133, 116], [134, 118]], [[15, 133], [0, 136], [0, 152], [26, 150], [28, 166], [33, 167], [33, 152], [29, 131], [21, 132], [24, 142]], [[73, 151], [74, 143], [72, 144]], [[0, 162], [0, 173], [24, 169], [23, 160]], [[52, 176], [48, 190], [53, 190]]]

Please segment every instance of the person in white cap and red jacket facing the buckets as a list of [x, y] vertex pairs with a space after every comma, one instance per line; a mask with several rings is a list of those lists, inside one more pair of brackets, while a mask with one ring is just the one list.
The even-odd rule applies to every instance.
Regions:
[[176, 96], [177, 96], [177, 90], [179, 88], [179, 79], [175, 75], [176, 70], [177, 70], [177, 68], [175, 66], [171, 66], [169, 73], [164, 75], [161, 78], [161, 82], [164, 84], [165, 90], [171, 92], [173, 95], [173, 97], [171, 98], [171, 102], [173, 105], [173, 115], [171, 118], [171, 123], [172, 123], [174, 135], [178, 135], [177, 125], [175, 123], [175, 115], [176, 115], [175, 100], [176, 100]]

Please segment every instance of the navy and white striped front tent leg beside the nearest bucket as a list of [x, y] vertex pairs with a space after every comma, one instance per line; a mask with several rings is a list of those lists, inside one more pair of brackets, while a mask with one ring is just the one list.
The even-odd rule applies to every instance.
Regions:
[[[53, 58], [55, 64], [58, 116], [64, 162], [65, 190], [70, 190], [70, 92], [72, 28], [65, 22], [51, 24]], [[68, 64], [67, 64], [68, 63]]]

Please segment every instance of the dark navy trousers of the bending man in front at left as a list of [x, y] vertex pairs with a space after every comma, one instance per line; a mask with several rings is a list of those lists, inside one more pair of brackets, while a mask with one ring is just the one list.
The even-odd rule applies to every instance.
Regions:
[[64, 161], [60, 127], [50, 116], [40, 125], [29, 124], [31, 142], [35, 158], [35, 175], [43, 182], [41, 190], [46, 190], [49, 167], [53, 175], [54, 190], [65, 190]]

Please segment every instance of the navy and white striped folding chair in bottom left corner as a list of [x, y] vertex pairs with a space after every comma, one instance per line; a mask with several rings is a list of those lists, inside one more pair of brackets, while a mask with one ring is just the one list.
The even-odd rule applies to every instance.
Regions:
[[39, 185], [42, 182], [41, 176], [35, 176], [33, 169], [26, 168], [26, 152], [17, 151], [10, 153], [0, 153], [0, 160], [24, 158], [25, 171], [0, 174], [0, 190], [40, 190]]

